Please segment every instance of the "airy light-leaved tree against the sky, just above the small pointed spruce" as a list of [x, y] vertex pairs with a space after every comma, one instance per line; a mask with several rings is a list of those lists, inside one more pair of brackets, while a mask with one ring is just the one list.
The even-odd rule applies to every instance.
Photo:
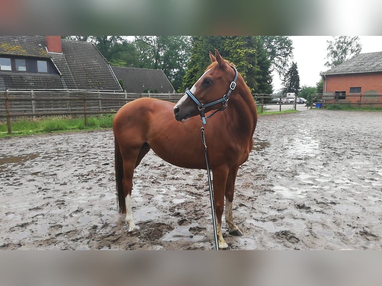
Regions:
[[260, 36], [260, 39], [271, 62], [271, 72], [275, 70], [283, 78], [293, 58], [293, 41], [289, 36]]

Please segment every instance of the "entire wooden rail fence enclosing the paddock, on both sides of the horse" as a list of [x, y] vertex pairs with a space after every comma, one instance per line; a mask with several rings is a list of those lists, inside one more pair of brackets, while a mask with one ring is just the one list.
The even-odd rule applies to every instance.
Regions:
[[[11, 118], [83, 115], [87, 125], [88, 115], [116, 113], [124, 104], [142, 97], [178, 102], [183, 94], [157, 93], [118, 93], [89, 91], [0, 91], [0, 118], [6, 118], [8, 133], [11, 133]], [[297, 96], [292, 102], [272, 101], [285, 99], [285, 95], [252, 94], [257, 106], [263, 112], [266, 105], [294, 105], [296, 109]], [[345, 99], [344, 99], [345, 97]], [[382, 94], [315, 94], [310, 104], [350, 104], [350, 105], [382, 105]], [[309, 104], [309, 103], [308, 103]]]

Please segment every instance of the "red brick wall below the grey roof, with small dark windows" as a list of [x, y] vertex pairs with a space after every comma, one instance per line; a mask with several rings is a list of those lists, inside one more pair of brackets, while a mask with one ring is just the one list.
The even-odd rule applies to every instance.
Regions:
[[[324, 94], [334, 94], [336, 91], [345, 91], [346, 99], [350, 103], [358, 103], [360, 97], [368, 94], [382, 95], [382, 72], [352, 75], [327, 75], [324, 77]], [[351, 87], [361, 87], [361, 94], [350, 93]], [[382, 102], [382, 97], [364, 97], [362, 101]]]

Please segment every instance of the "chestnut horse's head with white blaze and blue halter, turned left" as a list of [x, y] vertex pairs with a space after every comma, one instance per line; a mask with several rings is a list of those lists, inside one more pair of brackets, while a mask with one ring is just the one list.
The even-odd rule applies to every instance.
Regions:
[[175, 105], [176, 120], [200, 115], [205, 124], [204, 113], [226, 107], [229, 95], [236, 86], [237, 71], [216, 49], [215, 56], [209, 52], [209, 57], [212, 63]]

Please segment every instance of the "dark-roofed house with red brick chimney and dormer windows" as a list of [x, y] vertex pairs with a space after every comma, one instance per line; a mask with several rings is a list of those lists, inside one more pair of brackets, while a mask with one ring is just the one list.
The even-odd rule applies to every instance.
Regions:
[[122, 92], [94, 44], [60, 36], [0, 36], [0, 90]]

